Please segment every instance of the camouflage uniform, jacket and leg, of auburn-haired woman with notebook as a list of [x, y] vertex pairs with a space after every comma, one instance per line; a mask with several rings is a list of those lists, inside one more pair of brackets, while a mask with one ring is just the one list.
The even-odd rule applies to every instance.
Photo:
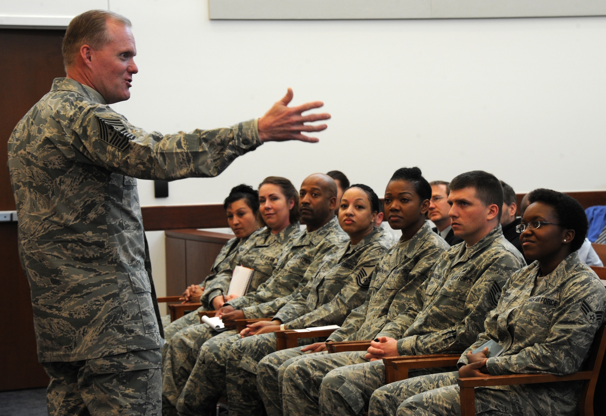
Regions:
[[[272, 270], [278, 267], [278, 259], [282, 253], [290, 251], [292, 244], [298, 239], [301, 230], [299, 223], [289, 224], [279, 233], [271, 233], [265, 227], [257, 230], [248, 237], [244, 244], [239, 246], [237, 252], [221, 263], [221, 268], [213, 276], [213, 280], [231, 281], [231, 271], [238, 265], [255, 270], [250, 290], [256, 290], [264, 277], [271, 275]], [[227, 262], [227, 264], [225, 264]], [[213, 290], [213, 289], [211, 289]], [[207, 290], [205, 289], [205, 293]], [[227, 293], [227, 288], [224, 289]], [[213, 296], [214, 297], [214, 296]], [[210, 302], [213, 297], [209, 297]], [[202, 309], [201, 310], [208, 310]], [[187, 323], [191, 322], [190, 325]], [[196, 358], [202, 344], [210, 339], [216, 332], [200, 324], [198, 313], [187, 314], [175, 323], [181, 328], [173, 333], [170, 340], [162, 347], [162, 391], [164, 401], [176, 403], [182, 386], [189, 377], [191, 369], [196, 364]], [[235, 334], [235, 332], [231, 332]], [[179, 387], [178, 387], [179, 386]], [[171, 404], [171, 407], [174, 404]]]

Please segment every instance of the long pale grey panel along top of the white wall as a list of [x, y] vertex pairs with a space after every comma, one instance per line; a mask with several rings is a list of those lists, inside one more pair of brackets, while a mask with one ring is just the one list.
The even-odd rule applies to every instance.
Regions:
[[605, 16], [604, 0], [208, 0], [210, 19], [464, 19]]

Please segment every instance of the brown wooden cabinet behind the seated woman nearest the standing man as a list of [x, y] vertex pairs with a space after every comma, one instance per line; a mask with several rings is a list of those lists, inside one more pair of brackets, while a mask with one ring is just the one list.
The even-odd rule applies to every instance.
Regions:
[[207, 277], [221, 248], [233, 235], [196, 229], [167, 230], [166, 294], [181, 295]]

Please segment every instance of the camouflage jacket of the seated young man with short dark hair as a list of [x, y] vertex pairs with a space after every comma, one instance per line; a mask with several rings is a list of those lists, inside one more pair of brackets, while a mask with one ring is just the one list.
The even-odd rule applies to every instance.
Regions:
[[501, 232], [501, 224], [471, 247], [442, 254], [408, 309], [378, 336], [398, 340], [400, 355], [461, 352], [484, 330], [505, 281], [525, 265]]

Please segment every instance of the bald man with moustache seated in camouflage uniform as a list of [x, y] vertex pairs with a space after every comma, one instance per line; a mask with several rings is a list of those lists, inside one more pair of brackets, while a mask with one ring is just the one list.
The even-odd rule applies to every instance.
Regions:
[[[293, 242], [290, 251], [282, 254], [271, 278], [261, 284], [255, 292], [230, 300], [219, 309], [226, 326], [234, 319], [267, 318], [275, 314], [292, 299], [295, 290], [300, 291], [305, 287], [307, 280], [304, 277], [307, 270], [313, 272], [325, 253], [333, 246], [347, 240], [347, 234], [339, 227], [334, 215], [335, 204], [336, 184], [330, 176], [315, 173], [305, 178], [301, 184], [299, 210], [301, 218], [307, 224], [307, 229]], [[235, 312], [239, 312], [239, 315]], [[226, 315], [230, 315], [231, 321], [226, 322]], [[211, 390], [198, 394], [201, 384], [195, 381], [198, 374], [204, 372], [204, 362], [201, 362], [200, 358], [204, 355], [201, 346], [215, 335], [221, 339], [233, 334], [236, 334], [235, 330], [218, 335], [215, 330], [204, 326], [190, 351], [181, 352], [193, 357], [193, 360], [190, 358], [184, 360], [184, 366], [178, 371], [173, 368], [172, 377], [168, 374], [163, 375], [164, 414], [173, 414], [176, 409], [185, 414], [189, 411], [188, 406], [198, 409], [202, 406], [199, 403], [205, 403], [205, 396], [202, 394], [210, 395]], [[192, 412], [196, 411], [192, 410]]]

